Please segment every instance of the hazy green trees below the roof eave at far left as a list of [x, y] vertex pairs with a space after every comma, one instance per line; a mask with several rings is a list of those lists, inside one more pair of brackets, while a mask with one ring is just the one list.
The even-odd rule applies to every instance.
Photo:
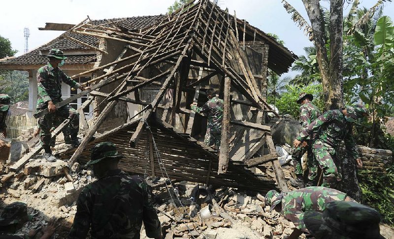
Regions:
[[0, 75], [0, 86], [10, 83], [8, 87], [1, 89], [1, 93], [8, 94], [11, 103], [29, 99], [29, 74], [26, 71], [8, 71]]

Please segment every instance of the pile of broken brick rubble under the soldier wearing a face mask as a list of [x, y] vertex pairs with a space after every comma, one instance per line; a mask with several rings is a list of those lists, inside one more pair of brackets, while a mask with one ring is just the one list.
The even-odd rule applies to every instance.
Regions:
[[66, 165], [62, 160], [50, 163], [36, 156], [19, 172], [10, 172], [8, 165], [1, 168], [0, 209], [20, 201], [28, 205], [28, 214], [32, 217], [16, 236], [40, 232], [51, 218], [55, 218], [59, 226], [53, 238], [66, 238], [76, 213], [79, 193], [96, 180], [91, 171], [80, 169], [78, 163], [69, 172]]

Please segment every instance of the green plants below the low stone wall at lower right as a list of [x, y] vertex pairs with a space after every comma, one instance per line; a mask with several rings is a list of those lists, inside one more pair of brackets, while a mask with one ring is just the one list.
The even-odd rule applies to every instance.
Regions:
[[362, 194], [362, 204], [377, 209], [382, 214], [382, 222], [394, 225], [394, 166], [385, 174], [360, 170], [358, 173]]

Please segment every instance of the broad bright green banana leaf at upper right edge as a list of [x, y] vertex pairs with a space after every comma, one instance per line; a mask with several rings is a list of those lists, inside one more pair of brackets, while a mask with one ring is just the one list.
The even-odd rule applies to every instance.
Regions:
[[390, 17], [383, 16], [379, 18], [376, 23], [376, 29], [374, 34], [375, 45], [383, 45], [393, 43], [393, 22]]

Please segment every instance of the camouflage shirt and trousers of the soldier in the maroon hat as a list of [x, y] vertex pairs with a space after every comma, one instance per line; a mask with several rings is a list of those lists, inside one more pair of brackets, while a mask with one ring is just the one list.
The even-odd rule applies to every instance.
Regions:
[[[300, 116], [300, 120], [302, 122], [302, 130], [305, 130], [306, 127], [308, 127], [309, 124], [311, 124], [318, 117], [320, 117], [321, 114], [322, 113], [320, 112], [320, 110], [311, 102], [301, 105], [301, 107], [299, 108], [299, 116]], [[302, 165], [301, 165], [301, 157], [302, 157], [302, 155], [304, 155], [305, 152], [307, 152], [308, 170], [309, 170], [308, 185], [310, 185], [310, 186], [317, 184], [317, 182], [316, 182], [317, 161], [314, 157], [313, 150], [312, 150], [313, 138], [314, 138], [314, 135], [312, 133], [312, 135], [308, 136], [305, 140], [308, 145], [306, 147], [301, 147], [301, 146], [297, 147], [293, 151], [293, 154], [292, 154], [296, 176], [297, 176], [297, 178], [302, 178], [303, 170], [302, 170]]]

